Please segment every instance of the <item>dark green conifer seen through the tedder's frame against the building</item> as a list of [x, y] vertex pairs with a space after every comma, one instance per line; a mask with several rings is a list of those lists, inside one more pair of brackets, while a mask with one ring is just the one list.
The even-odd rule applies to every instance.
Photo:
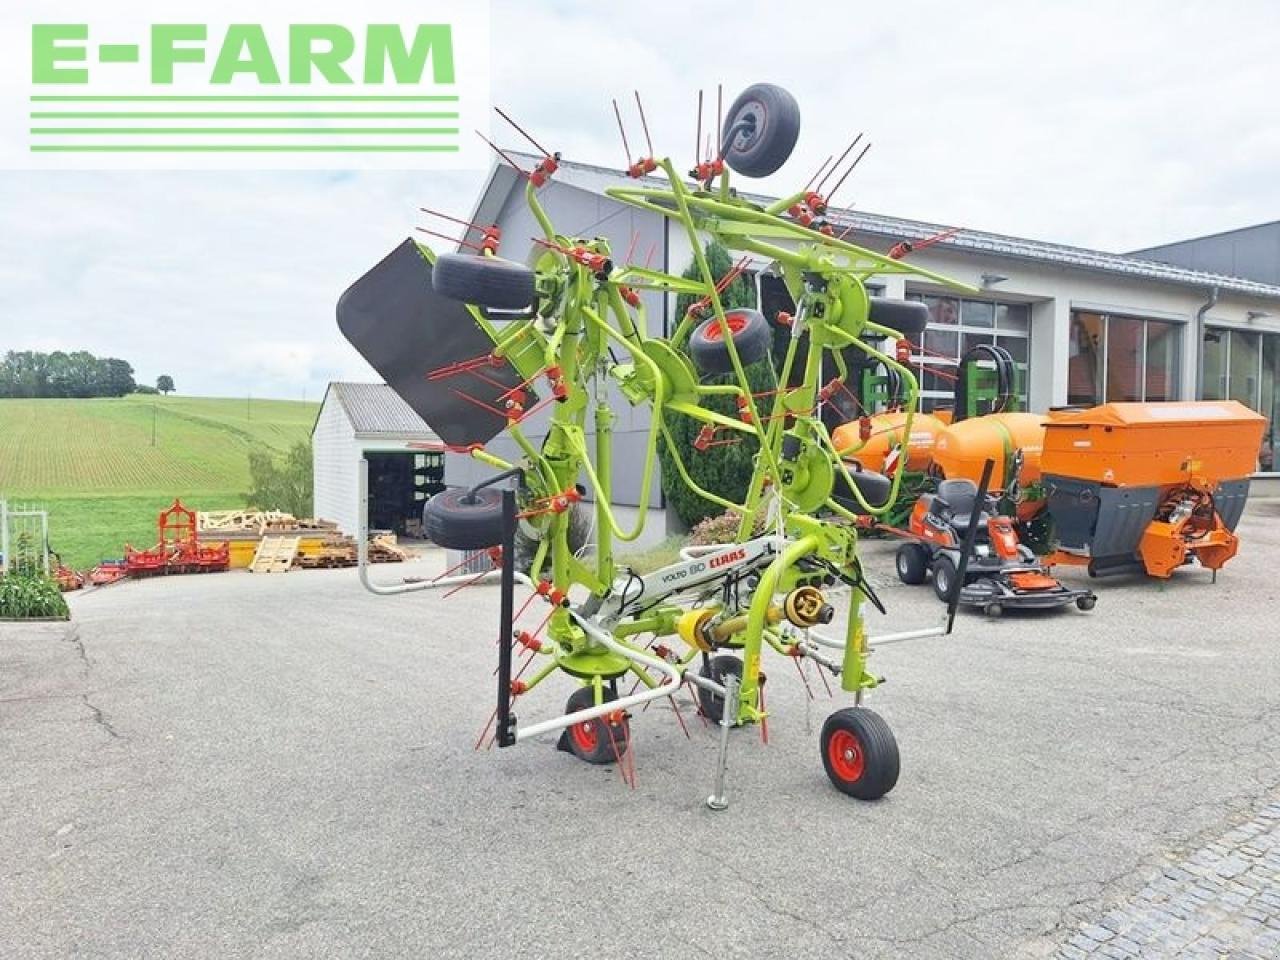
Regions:
[[[717, 282], [733, 269], [733, 261], [728, 250], [716, 241], [707, 244], [707, 262]], [[684, 276], [691, 279], [700, 278], [701, 274], [698, 270], [698, 264], [690, 264]], [[690, 294], [681, 294], [676, 302], [676, 316], [684, 317], [695, 300]], [[732, 307], [755, 307], [755, 289], [748, 282], [748, 278], [739, 276], [721, 293], [721, 303], [726, 310]], [[773, 365], [768, 360], [751, 364], [746, 367], [745, 372], [753, 393], [765, 393], [776, 385]], [[703, 383], [708, 384], [736, 381], [732, 374], [703, 378]], [[759, 406], [762, 401], [767, 404], [769, 398], [758, 398], [756, 404]], [[737, 404], [732, 397], [708, 397], [703, 401], [703, 406], [717, 413], [724, 413], [731, 417], [737, 416]], [[748, 438], [745, 434], [741, 435], [741, 439], [739, 436], [724, 436], [723, 439], [730, 440], [728, 443], [699, 451], [694, 447], [694, 440], [701, 431], [701, 421], [684, 413], [668, 413], [667, 426], [680, 453], [680, 458], [694, 483], [707, 492], [733, 503], [741, 503], [746, 498], [746, 488], [751, 480], [754, 458], [759, 448], [754, 438]], [[667, 495], [667, 504], [676, 511], [676, 516], [680, 517], [681, 522], [692, 526], [709, 516], [723, 513], [722, 507], [700, 497], [685, 484], [676, 470], [675, 458], [666, 443], [658, 444], [658, 460], [662, 465], [662, 490]]]

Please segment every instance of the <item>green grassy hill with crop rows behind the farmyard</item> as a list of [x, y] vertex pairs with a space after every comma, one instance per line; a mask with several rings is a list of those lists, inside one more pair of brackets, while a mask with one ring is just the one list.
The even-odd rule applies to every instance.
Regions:
[[[64, 562], [88, 567], [124, 544], [151, 547], [156, 515], [244, 504], [248, 452], [283, 453], [319, 404], [143, 397], [0, 399], [0, 497], [47, 509]], [[155, 444], [152, 445], [152, 426]]]

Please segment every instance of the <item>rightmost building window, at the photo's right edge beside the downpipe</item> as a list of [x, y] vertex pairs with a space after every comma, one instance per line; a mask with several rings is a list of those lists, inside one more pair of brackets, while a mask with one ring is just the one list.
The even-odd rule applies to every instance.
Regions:
[[1258, 468], [1277, 470], [1280, 419], [1280, 334], [1208, 328], [1201, 344], [1201, 398], [1234, 399], [1267, 419]]

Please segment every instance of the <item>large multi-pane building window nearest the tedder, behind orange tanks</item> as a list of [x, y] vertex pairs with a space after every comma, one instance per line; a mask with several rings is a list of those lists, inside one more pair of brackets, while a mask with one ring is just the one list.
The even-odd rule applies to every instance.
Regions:
[[[995, 343], [1014, 357], [1023, 371], [1021, 403], [1027, 406], [1028, 362], [1030, 357], [1030, 307], [1025, 303], [997, 303], [989, 300], [927, 297], [908, 293], [929, 308], [924, 338], [913, 344], [911, 364], [920, 380], [920, 410], [948, 410], [955, 404], [955, 384], [960, 357], [979, 343]], [[979, 361], [988, 364], [988, 361]]]

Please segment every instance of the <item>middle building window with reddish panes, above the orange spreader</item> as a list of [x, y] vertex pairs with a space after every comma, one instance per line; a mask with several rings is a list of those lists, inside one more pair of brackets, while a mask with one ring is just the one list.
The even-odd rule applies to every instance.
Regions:
[[1093, 407], [1174, 399], [1180, 356], [1178, 324], [1074, 310], [1066, 402]]

